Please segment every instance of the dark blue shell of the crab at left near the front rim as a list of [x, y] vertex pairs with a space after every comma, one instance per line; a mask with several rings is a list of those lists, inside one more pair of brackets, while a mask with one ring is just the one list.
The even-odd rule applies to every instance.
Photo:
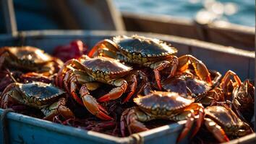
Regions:
[[24, 102], [31, 107], [45, 107], [56, 101], [65, 92], [61, 89], [42, 82], [17, 84], [22, 93]]

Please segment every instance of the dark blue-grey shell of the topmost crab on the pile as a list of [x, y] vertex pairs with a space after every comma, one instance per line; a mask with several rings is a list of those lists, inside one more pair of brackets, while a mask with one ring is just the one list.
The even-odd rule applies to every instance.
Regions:
[[176, 48], [171, 47], [166, 42], [149, 37], [125, 35], [113, 38], [121, 53], [132, 60], [147, 62], [147, 60], [161, 60], [169, 55], [177, 53]]

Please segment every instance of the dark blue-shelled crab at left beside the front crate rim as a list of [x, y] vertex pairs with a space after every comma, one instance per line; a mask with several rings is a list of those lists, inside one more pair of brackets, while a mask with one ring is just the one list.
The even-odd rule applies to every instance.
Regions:
[[64, 93], [61, 89], [42, 82], [12, 83], [1, 94], [0, 107], [7, 109], [10, 103], [25, 104], [40, 109], [45, 115], [44, 120], [53, 120], [58, 114], [69, 119], [74, 117], [74, 114], [65, 107], [66, 99], [61, 98]]

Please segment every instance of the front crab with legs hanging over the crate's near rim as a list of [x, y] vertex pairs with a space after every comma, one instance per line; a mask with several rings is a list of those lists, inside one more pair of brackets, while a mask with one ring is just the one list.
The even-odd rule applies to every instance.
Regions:
[[192, 125], [196, 122], [196, 127], [192, 132], [192, 137], [197, 133], [203, 121], [204, 108], [200, 103], [194, 103], [194, 99], [187, 99], [176, 92], [152, 91], [145, 96], [134, 99], [138, 107], [126, 109], [121, 114], [121, 134], [126, 135], [126, 127], [129, 134], [148, 130], [142, 122], [150, 120], [187, 120], [177, 142], [182, 140]]

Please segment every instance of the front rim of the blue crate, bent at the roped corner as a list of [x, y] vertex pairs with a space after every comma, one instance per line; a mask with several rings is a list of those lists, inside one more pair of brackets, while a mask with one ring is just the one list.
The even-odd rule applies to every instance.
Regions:
[[[0, 115], [4, 112], [4, 109], [0, 108]], [[90, 140], [95, 140], [94, 138], [98, 138], [98, 140], [102, 140], [103, 142], [114, 142], [114, 143], [130, 143], [134, 141], [136, 138], [139, 138], [140, 140], [136, 141], [143, 141], [143, 139], [151, 139], [146, 138], [148, 135], [154, 135], [155, 133], [163, 130], [169, 130], [170, 127], [172, 128], [171, 132], [175, 132], [179, 130], [181, 127], [184, 126], [184, 124], [187, 122], [187, 120], [182, 120], [179, 122], [171, 123], [170, 125], [163, 125], [161, 127], [155, 127], [151, 130], [145, 131], [145, 132], [138, 132], [132, 135], [129, 135], [127, 137], [116, 137], [113, 135], [104, 134], [101, 132], [94, 132], [91, 130], [83, 130], [77, 127], [71, 127], [67, 125], [61, 125], [55, 122], [50, 122], [47, 120], [42, 120], [36, 117], [30, 117], [25, 114], [19, 114], [16, 112], [8, 112], [7, 119], [14, 120], [17, 122], [22, 122], [28, 125], [33, 125], [36, 127], [43, 127], [46, 130], [54, 130], [55, 132], [61, 133], [61, 134], [69, 134], [74, 137], [78, 138], [89, 138]], [[72, 131], [72, 132], [71, 132]], [[102, 138], [102, 139], [101, 139]]]

